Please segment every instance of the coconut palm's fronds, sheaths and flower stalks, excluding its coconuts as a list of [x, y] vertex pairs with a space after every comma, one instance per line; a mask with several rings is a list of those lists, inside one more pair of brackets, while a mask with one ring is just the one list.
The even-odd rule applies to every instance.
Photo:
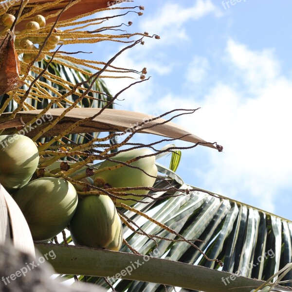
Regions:
[[[11, 73], [15, 69], [13, 78], [22, 78], [22, 83], [17, 83], [15, 88], [9, 87], [9, 91], [5, 91], [4, 87], [6, 95], [1, 96], [1, 120], [7, 122], [13, 118], [21, 118], [25, 125], [30, 125], [45, 113], [52, 116], [52, 120], [44, 121], [26, 134], [38, 143], [40, 164], [36, 176], [54, 176], [59, 173], [76, 186], [84, 186], [84, 179], [88, 180], [87, 184], [90, 185], [88, 177], [91, 175], [86, 174], [81, 166], [96, 171], [100, 164], [95, 160], [102, 160], [98, 155], [103, 155], [104, 159], [114, 159], [114, 151], [117, 151], [118, 147], [134, 146], [128, 142], [128, 138], [124, 138], [120, 143], [108, 138], [104, 140], [107, 144], [102, 144], [104, 138], [99, 138], [99, 134], [110, 132], [108, 137], [115, 137], [117, 132], [126, 132], [129, 125], [136, 123], [139, 127], [130, 127], [130, 136], [136, 132], [151, 133], [163, 136], [167, 143], [182, 139], [192, 143], [190, 147], [193, 148], [208, 146], [210, 151], [222, 150], [217, 144], [208, 143], [171, 123], [172, 118], [149, 118], [143, 113], [112, 109], [113, 102], [120, 92], [112, 96], [101, 82], [102, 74], [142, 74], [141, 80], [133, 83], [137, 84], [144, 82], [146, 70], [138, 72], [116, 68], [112, 65], [114, 58], [107, 63], [90, 62], [44, 49], [52, 36], [61, 36], [63, 44], [89, 43], [100, 41], [101, 34], [106, 29], [118, 29], [103, 27], [93, 34], [86, 31], [83, 35], [74, 28], [60, 31], [59, 27], [67, 28], [74, 24], [83, 28], [92, 21], [105, 20], [79, 20], [82, 16], [96, 12], [94, 9], [105, 9], [107, 5], [104, 0], [93, 1], [95, 6], [86, 5], [85, 2], [90, 1], [41, 1], [37, 5], [32, 1], [30, 6], [24, 7], [22, 11], [19, 11], [19, 7], [22, 9], [19, 3], [7, 9], [19, 19], [18, 23], [15, 23], [16, 29], [21, 30], [14, 40], [18, 48], [17, 53], [31, 54], [32, 60], [26, 63], [22, 55], [20, 77], [16, 75], [16, 66], [8, 68], [2, 61], [2, 68], [7, 70], [4, 73], [2, 71], [0, 77], [7, 77], [6, 72]], [[23, 5], [22, 2], [21, 4]], [[80, 11], [81, 7], [86, 11]], [[46, 29], [39, 28], [38, 35], [25, 30], [27, 22], [40, 12], [48, 17]], [[52, 17], [49, 18], [50, 15]], [[3, 31], [5, 32], [5, 29]], [[126, 50], [143, 42], [139, 39], [129, 44], [128, 40], [123, 39], [133, 35], [107, 34], [102, 40], [125, 42], [127, 47], [123, 50]], [[138, 35], [149, 37], [148, 34]], [[27, 50], [21, 47], [20, 42], [25, 37], [38, 43], [39, 49], [31, 47]], [[4, 34], [0, 54], [14, 54], [9, 49], [14, 43], [9, 34]], [[46, 58], [35, 63], [42, 52], [46, 52]], [[89, 71], [88, 68], [97, 72], [93, 73], [94, 71]], [[173, 111], [173, 115], [194, 111]], [[145, 118], [148, 119], [147, 123], [143, 122]], [[2, 133], [15, 132], [14, 126], [5, 128]], [[93, 142], [102, 145], [98, 148], [99, 145]], [[155, 144], [135, 146], [155, 149]], [[107, 149], [105, 153], [104, 148]], [[156, 162], [159, 175], [153, 188], [148, 189], [149, 195], [144, 196], [142, 200], [138, 198], [137, 201], [140, 202], [132, 207], [120, 204], [118, 212], [124, 222], [124, 245], [119, 252], [71, 245], [72, 238], [68, 232], [63, 232], [64, 244], [53, 244], [53, 240], [51, 243], [33, 243], [22, 213], [2, 186], [0, 214], [3, 220], [0, 243], [7, 242], [7, 238], [11, 237], [11, 225], [13, 241], [18, 248], [31, 254], [34, 254], [34, 248], [43, 255], [51, 250], [55, 252], [57, 260], [48, 260], [56, 273], [63, 275], [62, 279], [78, 275], [79, 281], [111, 287], [116, 291], [176, 291], [175, 287], [179, 287], [186, 291], [225, 292], [233, 289], [238, 292], [250, 292], [258, 287], [262, 289], [270, 281], [274, 281], [276, 285], [280, 280], [290, 280], [292, 222], [184, 183], [174, 172], [181, 154], [176, 152], [178, 149], [179, 147], [172, 144], [164, 149], [156, 149], [157, 157], [172, 153], [170, 166], [165, 167]], [[107, 153], [112, 156], [107, 156]], [[62, 169], [60, 159], [67, 160], [70, 167], [76, 167], [79, 172], [74, 172], [73, 178], [67, 175], [68, 169]], [[56, 168], [47, 168], [54, 163], [58, 165]], [[100, 189], [97, 191], [97, 188], [92, 191], [97, 195], [101, 194], [98, 192], [105, 192]], [[87, 195], [86, 192], [88, 191], [82, 190], [79, 194]], [[115, 194], [114, 191], [112, 194]], [[3, 208], [4, 205], [9, 213]], [[271, 291], [289, 291], [283, 288], [284, 286], [272, 287], [274, 285], [269, 284]], [[287, 282], [283, 285], [291, 284]]]

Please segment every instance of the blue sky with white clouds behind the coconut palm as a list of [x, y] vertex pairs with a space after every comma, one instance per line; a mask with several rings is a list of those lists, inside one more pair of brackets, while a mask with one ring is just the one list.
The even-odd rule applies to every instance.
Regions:
[[[161, 39], [147, 38], [116, 60], [118, 66], [146, 67], [151, 76], [126, 91], [116, 108], [151, 114], [200, 107], [175, 122], [217, 141], [224, 152], [203, 146], [183, 151], [177, 172], [185, 183], [292, 219], [292, 2], [134, 4], [145, 6], [143, 16], [132, 13], [111, 23], [132, 21], [128, 32]], [[91, 58], [106, 61], [119, 48], [95, 44]], [[112, 93], [128, 85], [106, 81]]]

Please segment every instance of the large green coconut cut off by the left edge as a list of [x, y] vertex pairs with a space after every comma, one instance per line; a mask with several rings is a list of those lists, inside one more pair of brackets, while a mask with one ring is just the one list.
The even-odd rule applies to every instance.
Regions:
[[0, 183], [7, 189], [18, 189], [29, 182], [37, 169], [38, 150], [23, 135], [0, 136]]

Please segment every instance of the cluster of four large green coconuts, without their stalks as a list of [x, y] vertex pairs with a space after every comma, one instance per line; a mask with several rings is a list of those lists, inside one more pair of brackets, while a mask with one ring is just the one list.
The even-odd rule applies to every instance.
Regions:
[[[115, 167], [116, 162], [105, 161], [92, 176], [94, 184], [106, 188], [152, 187], [157, 176], [154, 156], [148, 149], [121, 152], [114, 160], [134, 161], [134, 167]], [[23, 135], [0, 136], [0, 183], [13, 195], [29, 225], [35, 241], [55, 237], [66, 227], [75, 245], [118, 251], [123, 242], [123, 226], [112, 199], [107, 195], [89, 195], [78, 198], [72, 183], [58, 177], [42, 177], [32, 180], [39, 162], [36, 144]], [[113, 166], [113, 167], [112, 167]], [[103, 185], [100, 183], [103, 182]], [[125, 191], [132, 205], [146, 195], [147, 190]]]

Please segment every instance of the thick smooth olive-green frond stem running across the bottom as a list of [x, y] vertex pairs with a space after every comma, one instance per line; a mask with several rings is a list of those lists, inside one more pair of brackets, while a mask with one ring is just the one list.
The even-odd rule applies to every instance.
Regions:
[[[57, 273], [80, 274], [82, 272], [90, 275], [86, 277], [87, 282], [94, 279], [95, 275], [106, 277], [110, 283], [116, 277], [123, 277], [128, 279], [122, 280], [122, 283], [127, 286], [125, 290], [130, 286], [129, 284], [133, 279], [162, 282], [165, 285], [181, 286], [191, 291], [200, 289], [205, 292], [250, 292], [253, 288], [259, 287], [263, 283], [256, 279], [239, 276], [236, 281], [231, 281], [229, 286], [226, 286], [221, 281], [221, 278], [229, 277], [231, 275], [229, 273], [151, 256], [146, 257], [71, 245], [38, 243], [36, 247], [44, 255], [49, 251], [54, 251], [55, 258], [48, 258], [48, 261], [53, 265]], [[65, 277], [64, 279], [68, 278], [70, 277]], [[140, 283], [143, 284], [142, 282]], [[276, 286], [276, 290], [273, 291], [289, 291], [282, 288], [280, 288], [281, 290], [278, 289], [279, 286]], [[115, 287], [115, 290], [121, 291], [119, 290], [119, 285]], [[154, 287], [145, 289], [140, 285], [136, 287], [135, 291], [154, 292], [156, 290]]]

